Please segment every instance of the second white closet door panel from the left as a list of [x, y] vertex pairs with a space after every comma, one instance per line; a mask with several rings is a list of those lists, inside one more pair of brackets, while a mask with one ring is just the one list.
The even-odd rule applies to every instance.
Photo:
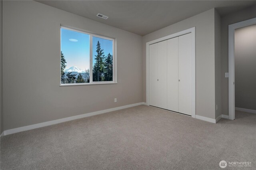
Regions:
[[167, 109], [167, 40], [158, 44], [158, 107]]

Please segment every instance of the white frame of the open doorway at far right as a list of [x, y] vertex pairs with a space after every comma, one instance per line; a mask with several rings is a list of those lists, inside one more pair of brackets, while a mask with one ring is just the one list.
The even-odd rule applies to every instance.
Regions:
[[228, 119], [235, 119], [235, 29], [256, 24], [256, 18], [228, 26]]

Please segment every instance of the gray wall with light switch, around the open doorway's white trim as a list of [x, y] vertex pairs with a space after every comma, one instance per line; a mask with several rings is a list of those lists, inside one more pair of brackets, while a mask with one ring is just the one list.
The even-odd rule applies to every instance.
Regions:
[[256, 6], [221, 17], [222, 114], [228, 115], [228, 25], [256, 17]]

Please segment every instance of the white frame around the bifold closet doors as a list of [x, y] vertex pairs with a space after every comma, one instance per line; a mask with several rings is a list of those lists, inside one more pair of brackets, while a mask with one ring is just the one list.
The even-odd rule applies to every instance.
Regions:
[[149, 45], [191, 33], [191, 117], [196, 117], [196, 28], [177, 32], [146, 43], [146, 104], [149, 105]]

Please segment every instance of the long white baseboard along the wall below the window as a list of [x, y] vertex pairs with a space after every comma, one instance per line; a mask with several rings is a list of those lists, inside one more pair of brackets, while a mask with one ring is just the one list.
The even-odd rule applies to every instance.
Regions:
[[102, 114], [102, 113], [117, 111], [117, 110], [120, 110], [120, 109], [126, 109], [128, 107], [134, 107], [134, 106], [138, 106], [138, 105], [145, 105], [145, 104], [144, 104], [144, 102], [134, 103], [134, 104], [131, 104], [131, 105], [115, 107], [115, 108], [112, 108], [112, 109], [106, 109], [106, 110], [96, 111], [96, 112], [92, 112], [92, 113], [85, 113], [85, 114], [82, 114], [82, 115], [66, 117], [66, 118], [63, 118], [63, 119], [57, 119], [57, 120], [54, 120], [54, 121], [48, 121], [48, 122], [38, 123], [38, 124], [34, 124], [34, 125], [28, 125], [28, 126], [25, 126], [25, 127], [13, 128], [13, 129], [9, 129], [9, 130], [4, 130], [4, 132], [2, 132], [2, 134], [1, 134], [1, 136], [8, 135], [8, 134], [13, 134], [13, 133], [17, 133], [17, 132], [22, 132], [22, 131], [26, 131], [26, 130], [31, 130], [31, 129], [35, 129], [35, 128], [40, 128], [40, 127], [46, 127], [46, 126], [49, 126], [49, 125], [54, 125], [54, 124], [58, 124], [58, 123], [62, 123], [62, 122], [72, 121], [72, 120], [75, 120], [75, 119], [81, 119], [81, 118], [84, 118], [84, 117], [99, 115], [99, 114]]

